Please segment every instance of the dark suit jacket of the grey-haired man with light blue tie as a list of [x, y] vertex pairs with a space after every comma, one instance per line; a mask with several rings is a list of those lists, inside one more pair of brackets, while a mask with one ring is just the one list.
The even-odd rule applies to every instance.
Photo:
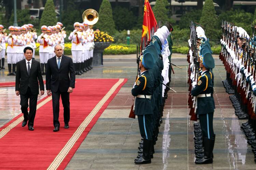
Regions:
[[62, 55], [58, 69], [56, 55], [47, 61], [46, 89], [52, 92], [68, 91], [69, 87], [75, 88], [75, 69], [72, 58]]

